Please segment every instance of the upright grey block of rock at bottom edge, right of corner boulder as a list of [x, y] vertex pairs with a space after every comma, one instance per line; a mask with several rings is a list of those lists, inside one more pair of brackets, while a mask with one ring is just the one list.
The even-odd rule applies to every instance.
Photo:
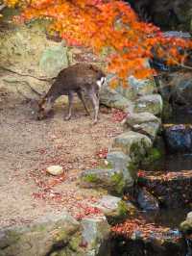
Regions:
[[108, 238], [110, 226], [105, 217], [83, 218], [83, 244], [86, 244], [86, 256], [110, 255]]

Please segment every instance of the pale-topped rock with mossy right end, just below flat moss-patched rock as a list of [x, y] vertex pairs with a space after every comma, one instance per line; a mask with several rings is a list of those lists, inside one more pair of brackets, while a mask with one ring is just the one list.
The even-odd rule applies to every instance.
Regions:
[[104, 195], [97, 203], [92, 206], [100, 209], [108, 219], [109, 224], [122, 221], [135, 212], [132, 203], [127, 203], [121, 197]]

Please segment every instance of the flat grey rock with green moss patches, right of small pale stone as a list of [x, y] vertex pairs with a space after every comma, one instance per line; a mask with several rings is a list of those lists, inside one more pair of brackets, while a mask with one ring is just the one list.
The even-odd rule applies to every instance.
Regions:
[[124, 172], [113, 168], [86, 169], [81, 175], [81, 186], [84, 188], [103, 188], [108, 192], [122, 194], [132, 187], [132, 179], [127, 179]]

